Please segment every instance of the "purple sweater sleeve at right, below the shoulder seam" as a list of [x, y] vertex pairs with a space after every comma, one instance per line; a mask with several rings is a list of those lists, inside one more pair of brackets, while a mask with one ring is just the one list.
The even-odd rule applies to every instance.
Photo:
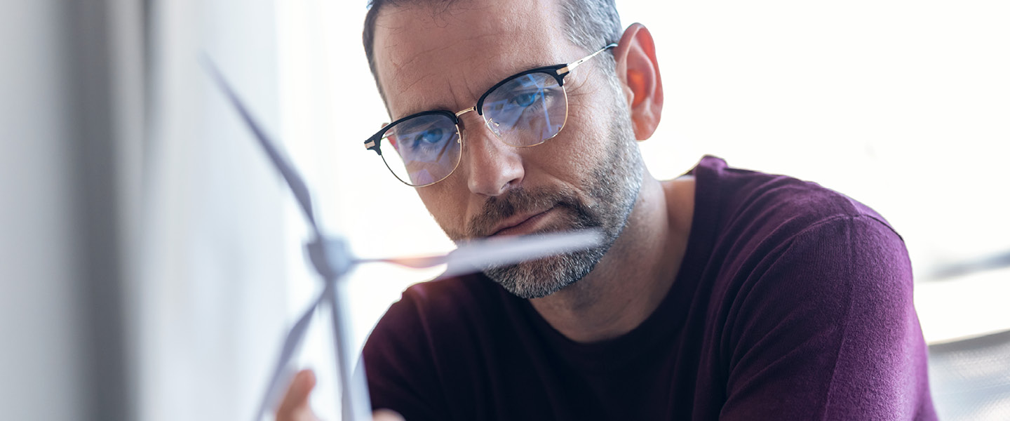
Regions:
[[729, 306], [723, 420], [932, 420], [901, 239], [871, 216], [800, 231]]

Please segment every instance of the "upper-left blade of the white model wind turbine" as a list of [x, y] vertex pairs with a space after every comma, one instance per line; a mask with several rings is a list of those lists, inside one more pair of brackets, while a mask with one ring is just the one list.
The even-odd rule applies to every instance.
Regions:
[[284, 155], [281, 154], [277, 145], [270, 139], [267, 132], [264, 131], [263, 126], [257, 122], [256, 118], [252, 117], [252, 113], [249, 112], [248, 108], [238, 99], [238, 95], [228, 81], [224, 79], [224, 75], [221, 71], [214, 66], [214, 63], [210, 61], [209, 58], [204, 58], [204, 67], [207, 69], [207, 73], [214, 79], [214, 83], [224, 92], [224, 95], [228, 97], [231, 105], [238, 110], [238, 114], [241, 115], [242, 120], [245, 124], [252, 130], [252, 134], [259, 140], [260, 145], [263, 146], [267, 156], [270, 157], [271, 163], [277, 168], [277, 171], [281, 173], [281, 177], [291, 188], [291, 192], [295, 194], [295, 199], [298, 200], [299, 206], [302, 208], [302, 212], [305, 213], [305, 218], [308, 219], [309, 224], [312, 225], [312, 229], [318, 233], [319, 228], [316, 226], [315, 216], [312, 210], [312, 197], [309, 195], [309, 189], [305, 185], [305, 181], [302, 179], [298, 172], [295, 171], [294, 166], [285, 160]]

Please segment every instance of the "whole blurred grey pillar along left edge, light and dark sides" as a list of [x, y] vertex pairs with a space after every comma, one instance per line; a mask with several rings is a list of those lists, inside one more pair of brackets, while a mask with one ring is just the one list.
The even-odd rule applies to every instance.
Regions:
[[[139, 17], [124, 16], [124, 5], [142, 8], [127, 0], [8, 1], [0, 14], [5, 419], [134, 418], [122, 227], [124, 204], [135, 197], [121, 170], [138, 150], [124, 142], [141, 140], [142, 121], [124, 121], [142, 117], [143, 65], [113, 42], [121, 19]], [[134, 106], [123, 113], [116, 105], [129, 97]]]

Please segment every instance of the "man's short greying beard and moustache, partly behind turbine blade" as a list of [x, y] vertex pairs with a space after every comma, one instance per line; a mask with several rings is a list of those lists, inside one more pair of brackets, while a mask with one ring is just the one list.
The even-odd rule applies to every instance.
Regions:
[[629, 124], [617, 123], [630, 121], [626, 105], [620, 105], [618, 115], [614, 116], [618, 118], [611, 120], [614, 124], [610, 127], [609, 153], [594, 169], [589, 180], [583, 181], [583, 191], [588, 192], [595, 206], [583, 203], [571, 192], [525, 192], [522, 189], [510, 192], [500, 201], [486, 204], [487, 211], [482, 217], [494, 220], [501, 220], [516, 210], [544, 209], [553, 205], [565, 211], [563, 222], [544, 231], [596, 228], [603, 233], [603, 241], [594, 248], [484, 271], [488, 278], [508, 292], [520, 298], [533, 299], [546, 297], [575, 284], [596, 268], [627, 225], [641, 188], [643, 165]]

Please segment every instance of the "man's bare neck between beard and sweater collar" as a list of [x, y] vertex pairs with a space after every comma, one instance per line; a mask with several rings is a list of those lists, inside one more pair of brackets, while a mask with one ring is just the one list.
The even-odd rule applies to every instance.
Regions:
[[693, 178], [661, 183], [646, 171], [627, 225], [593, 272], [530, 303], [577, 342], [631, 331], [670, 291], [687, 249], [693, 212]]

